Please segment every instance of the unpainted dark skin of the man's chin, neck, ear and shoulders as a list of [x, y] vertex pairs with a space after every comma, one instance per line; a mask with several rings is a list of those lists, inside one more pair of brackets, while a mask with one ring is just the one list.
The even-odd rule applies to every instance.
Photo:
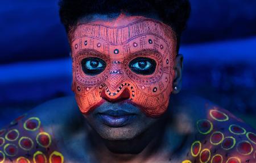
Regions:
[[[108, 20], [103, 19], [103, 21]], [[213, 159], [214, 154], [220, 153], [223, 155], [224, 161], [235, 159], [232, 157], [236, 156], [241, 162], [248, 159], [253, 162], [255, 159], [253, 141], [247, 139], [245, 134], [241, 134], [241, 138], [239, 138], [238, 135], [230, 132], [228, 127], [230, 124], [239, 124], [247, 132], [252, 133], [255, 133], [254, 129], [225, 110], [221, 111], [229, 116], [229, 120], [220, 122], [210, 117], [209, 114], [210, 110], [213, 108], [218, 110], [219, 107], [205, 99], [179, 93], [182, 84], [182, 68], [183, 56], [176, 55], [172, 86], [177, 89], [172, 91], [168, 110], [157, 118], [149, 117], [139, 108], [122, 103], [122, 101], [106, 102], [88, 115], [81, 114], [73, 97], [55, 99], [36, 107], [26, 116], [4, 128], [6, 132], [2, 133], [3, 136], [0, 134], [0, 137], [7, 136], [8, 138], [9, 136], [12, 139], [13, 137], [7, 134], [12, 129], [19, 131], [19, 137], [17, 140], [7, 140], [5, 144], [0, 144], [0, 151], [5, 151], [8, 154], [7, 143], [16, 144], [21, 136], [31, 137], [36, 144], [38, 143], [36, 135], [42, 131], [51, 135], [51, 145], [42, 148], [40, 144], [37, 144], [28, 152], [19, 149], [15, 156], [6, 156], [5, 162], [11, 162], [19, 157], [25, 157], [32, 162], [33, 154], [36, 151], [42, 151], [47, 160], [48, 158], [51, 160], [53, 151], [60, 152], [65, 162], [200, 162], [200, 159], [204, 159], [199, 158], [201, 154], [197, 156], [195, 152], [191, 151], [191, 144], [196, 140], [201, 142], [201, 151], [199, 152], [202, 152], [203, 149], [210, 150], [211, 157], [209, 159]], [[97, 114], [110, 107], [133, 110], [136, 119], [123, 127], [109, 127], [97, 119]], [[25, 131], [26, 120], [31, 117], [40, 119], [40, 129]], [[218, 116], [218, 118], [222, 118], [222, 116]], [[198, 120], [204, 119], [208, 119], [214, 129], [210, 128], [207, 123], [203, 124], [206, 129], [200, 128]], [[27, 127], [34, 128], [33, 125]], [[250, 142], [253, 152], [247, 155], [237, 154], [236, 148], [224, 149], [221, 145], [210, 144], [209, 139], [213, 131], [221, 131], [225, 136], [235, 137], [236, 145], [241, 140]], [[17, 145], [17, 147], [19, 146]], [[192, 156], [193, 154], [195, 156]], [[34, 157], [34, 159], [36, 158]]]

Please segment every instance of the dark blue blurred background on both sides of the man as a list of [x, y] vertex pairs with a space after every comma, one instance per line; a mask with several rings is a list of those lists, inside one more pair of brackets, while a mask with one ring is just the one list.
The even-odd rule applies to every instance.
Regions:
[[[183, 34], [183, 91], [253, 125], [256, 1], [191, 0]], [[0, 126], [32, 107], [71, 95], [71, 60], [56, 0], [0, 2]]]

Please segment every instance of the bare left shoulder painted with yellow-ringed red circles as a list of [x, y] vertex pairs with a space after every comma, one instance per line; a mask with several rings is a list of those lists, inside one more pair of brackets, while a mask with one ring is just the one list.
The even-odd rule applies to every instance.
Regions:
[[75, 99], [65, 97], [14, 119], [0, 129], [0, 162], [63, 162], [61, 134], [77, 113]]

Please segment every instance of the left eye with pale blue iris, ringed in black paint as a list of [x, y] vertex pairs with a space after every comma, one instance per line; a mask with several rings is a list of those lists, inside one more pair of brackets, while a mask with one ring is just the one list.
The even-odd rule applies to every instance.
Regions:
[[95, 76], [103, 72], [106, 68], [106, 62], [101, 58], [91, 57], [84, 58], [81, 61], [82, 70], [85, 74]]

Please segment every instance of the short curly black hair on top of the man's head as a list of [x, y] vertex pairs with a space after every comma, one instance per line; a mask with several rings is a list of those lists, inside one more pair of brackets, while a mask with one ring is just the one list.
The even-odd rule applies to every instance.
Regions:
[[60, 0], [59, 7], [67, 32], [86, 15], [125, 12], [146, 17], [154, 14], [174, 29], [178, 43], [191, 11], [189, 0]]

